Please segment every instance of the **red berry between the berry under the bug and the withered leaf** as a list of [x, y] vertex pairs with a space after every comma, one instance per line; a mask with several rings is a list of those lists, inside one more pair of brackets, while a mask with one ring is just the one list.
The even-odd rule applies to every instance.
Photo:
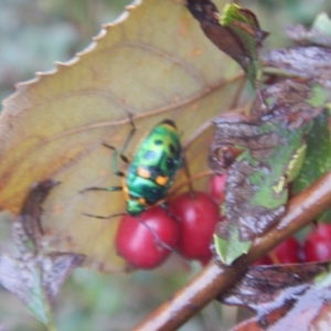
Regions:
[[186, 258], [210, 259], [210, 244], [218, 221], [213, 199], [203, 192], [184, 193], [170, 202], [169, 211], [180, 222], [179, 253]]

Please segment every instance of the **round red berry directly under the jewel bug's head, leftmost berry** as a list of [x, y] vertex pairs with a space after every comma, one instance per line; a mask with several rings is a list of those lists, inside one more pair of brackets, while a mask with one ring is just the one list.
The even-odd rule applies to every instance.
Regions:
[[140, 216], [125, 215], [116, 235], [118, 254], [130, 265], [151, 269], [162, 264], [179, 238], [179, 224], [161, 206]]

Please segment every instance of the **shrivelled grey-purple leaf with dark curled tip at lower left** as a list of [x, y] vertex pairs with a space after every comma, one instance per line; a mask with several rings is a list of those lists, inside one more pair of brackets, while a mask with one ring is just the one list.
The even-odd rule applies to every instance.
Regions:
[[52, 300], [74, 268], [84, 260], [84, 256], [77, 254], [49, 254], [41, 245], [41, 204], [56, 184], [45, 180], [32, 186], [12, 224], [18, 254], [14, 257], [0, 255], [0, 284], [17, 296], [49, 330], [55, 330]]

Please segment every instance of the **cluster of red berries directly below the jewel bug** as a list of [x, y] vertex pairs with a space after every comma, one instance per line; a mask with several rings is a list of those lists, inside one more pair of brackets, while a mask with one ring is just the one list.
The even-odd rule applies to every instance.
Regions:
[[212, 257], [210, 245], [224, 184], [224, 178], [215, 177], [211, 194], [186, 192], [171, 200], [167, 210], [154, 206], [139, 217], [124, 216], [116, 236], [118, 254], [139, 269], [159, 266], [172, 252], [205, 264]]

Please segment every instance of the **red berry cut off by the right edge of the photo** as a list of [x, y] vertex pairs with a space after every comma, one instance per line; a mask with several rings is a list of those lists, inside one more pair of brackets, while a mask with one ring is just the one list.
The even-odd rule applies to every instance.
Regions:
[[331, 224], [319, 224], [306, 238], [303, 252], [306, 261], [331, 259]]

